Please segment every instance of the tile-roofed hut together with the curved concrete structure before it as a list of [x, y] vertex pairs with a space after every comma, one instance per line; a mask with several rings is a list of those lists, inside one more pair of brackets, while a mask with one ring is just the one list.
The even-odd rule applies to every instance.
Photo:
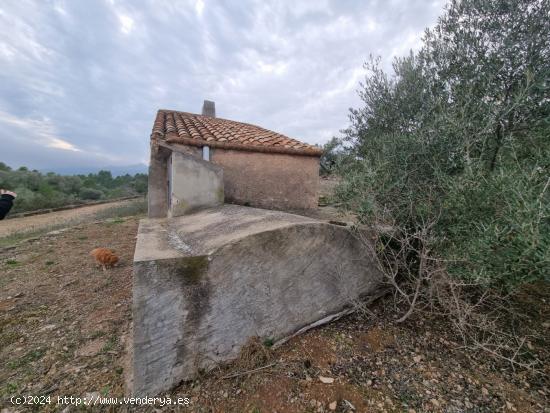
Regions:
[[282, 345], [383, 293], [368, 231], [272, 210], [316, 207], [321, 151], [214, 115], [212, 102], [202, 115], [160, 110], [151, 135], [126, 371], [138, 397], [237, 358], [254, 337]]

